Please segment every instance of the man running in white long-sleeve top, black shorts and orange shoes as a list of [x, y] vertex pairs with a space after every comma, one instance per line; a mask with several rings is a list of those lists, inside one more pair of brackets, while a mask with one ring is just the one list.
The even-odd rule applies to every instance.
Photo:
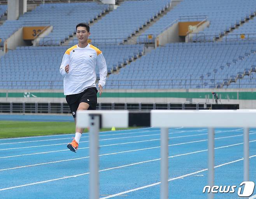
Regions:
[[[60, 73], [64, 77], [64, 95], [75, 119], [77, 110], [96, 110], [97, 88], [95, 68], [99, 67], [100, 96], [107, 77], [107, 65], [102, 52], [88, 43], [89, 25], [80, 23], [76, 26], [78, 44], [65, 52]], [[75, 119], [76, 123], [76, 119]], [[75, 128], [75, 138], [67, 145], [70, 151], [76, 152], [84, 128]]]

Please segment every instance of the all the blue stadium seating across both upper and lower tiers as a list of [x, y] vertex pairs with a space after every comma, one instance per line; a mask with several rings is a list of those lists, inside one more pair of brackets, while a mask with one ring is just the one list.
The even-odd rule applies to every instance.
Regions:
[[[223, 38], [223, 42], [169, 43], [140, 59], [137, 58], [144, 53], [144, 45], [111, 44], [123, 43], [128, 36], [166, 9], [169, 3], [169, 0], [125, 1], [90, 27], [91, 43], [102, 50], [107, 62], [110, 74], [107, 89], [255, 88], [256, 82], [252, 78], [256, 72], [254, 40], [228, 41], [233, 37], [229, 34]], [[196, 13], [208, 13], [211, 25], [203, 34], [208, 35], [214, 31], [221, 34], [221, 31], [240, 24], [243, 13], [243, 19], [255, 14], [254, 4], [254, 1], [248, 0], [244, 7], [238, 9], [237, 0], [184, 0], [147, 31], [152, 30], [151, 33], [156, 34], [162, 27], [166, 27], [170, 19], [176, 19], [177, 16], [182, 18]], [[67, 5], [69, 6], [66, 7]], [[6, 21], [0, 26], [1, 36], [8, 38], [15, 28], [19, 29], [28, 23], [29, 18], [33, 18], [30, 23], [35, 24], [40, 21], [40, 17], [45, 17], [45, 21], [41, 23], [50, 21], [54, 25], [54, 31], [40, 41], [41, 45], [49, 46], [18, 47], [0, 57], [0, 79], [4, 82], [0, 89], [62, 89], [63, 78], [59, 67], [68, 47], [59, 45], [74, 34], [74, 24], [81, 22], [80, 19], [75, 21], [77, 16], [74, 17], [73, 10], [77, 5], [81, 5], [77, 9], [81, 12], [85, 9], [83, 6], [87, 6], [86, 9], [90, 10], [86, 16], [89, 21], [109, 9], [108, 6], [95, 2], [45, 4], [21, 16], [19, 20]], [[65, 10], [65, 16], [61, 10]], [[232, 20], [235, 20], [234, 24], [231, 24]], [[220, 29], [224, 26], [228, 28]], [[255, 19], [250, 19], [233, 33], [253, 33], [255, 26]], [[70, 40], [69, 47], [76, 43], [76, 38]], [[131, 64], [122, 68], [129, 62]], [[113, 74], [113, 71], [118, 71], [118, 74]], [[96, 75], [99, 79], [98, 68]]]

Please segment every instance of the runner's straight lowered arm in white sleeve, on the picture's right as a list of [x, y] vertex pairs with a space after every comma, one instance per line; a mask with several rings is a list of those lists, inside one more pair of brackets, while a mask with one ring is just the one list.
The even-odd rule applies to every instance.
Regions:
[[96, 66], [99, 67], [99, 71], [100, 71], [100, 81], [98, 83], [98, 87], [100, 88], [100, 95], [101, 95], [102, 87], [105, 86], [106, 78], [107, 78], [107, 64], [102, 53], [97, 56]]

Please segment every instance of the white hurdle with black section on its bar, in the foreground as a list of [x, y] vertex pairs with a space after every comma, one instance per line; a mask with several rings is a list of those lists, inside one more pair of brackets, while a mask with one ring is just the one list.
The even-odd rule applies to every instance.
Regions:
[[[104, 128], [133, 126], [130, 121], [132, 114], [134, 112], [129, 111], [77, 111], [77, 126], [90, 127], [89, 199], [99, 198], [98, 131], [100, 126]], [[256, 127], [255, 121], [256, 111], [254, 110], [152, 110], [148, 126], [161, 128], [160, 198], [168, 199], [168, 128], [181, 126], [208, 128], [208, 185], [212, 187], [214, 185], [214, 128], [244, 128], [244, 181], [249, 181], [249, 128]], [[136, 124], [139, 125], [139, 121]], [[214, 199], [214, 195], [208, 194], [208, 199]]]

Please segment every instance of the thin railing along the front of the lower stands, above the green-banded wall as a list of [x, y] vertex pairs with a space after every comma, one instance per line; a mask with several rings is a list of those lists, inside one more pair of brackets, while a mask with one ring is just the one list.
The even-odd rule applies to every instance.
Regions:
[[[111, 87], [121, 89], [123, 87], [145, 89], [145, 88], [223, 88], [224, 86], [229, 86], [232, 82], [236, 83], [238, 87], [255, 85], [254, 82], [256, 78], [250, 78], [252, 83], [245, 83], [243, 78], [238, 78], [234, 76], [233, 79], [229, 78], [188, 78], [188, 79], [147, 79], [147, 80], [108, 80], [106, 89], [111, 89]], [[198, 83], [199, 82], [199, 83]], [[256, 86], [255, 86], [256, 88]], [[63, 81], [0, 81], [0, 89], [63, 89]]]

